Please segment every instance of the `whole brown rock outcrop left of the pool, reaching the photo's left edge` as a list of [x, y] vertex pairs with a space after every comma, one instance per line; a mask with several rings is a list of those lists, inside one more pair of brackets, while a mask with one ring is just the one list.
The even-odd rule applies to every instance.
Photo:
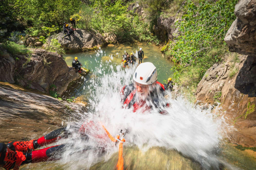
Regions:
[[31, 58], [27, 64], [27, 59], [23, 55], [18, 55], [15, 61], [7, 52], [1, 54], [0, 81], [16, 81], [24, 87], [37, 89], [43, 93], [54, 91], [61, 95], [69, 83], [81, 77], [72, 67], [67, 66], [62, 55], [42, 49], [31, 51]]

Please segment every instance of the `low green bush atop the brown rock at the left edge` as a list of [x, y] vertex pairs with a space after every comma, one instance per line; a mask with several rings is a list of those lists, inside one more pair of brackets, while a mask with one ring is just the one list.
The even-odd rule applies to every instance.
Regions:
[[3, 44], [1, 44], [1, 47], [6, 49], [8, 53], [10, 53], [13, 57], [15, 55], [24, 55], [31, 53], [29, 49], [25, 45], [19, 45], [15, 42], [7, 41]]

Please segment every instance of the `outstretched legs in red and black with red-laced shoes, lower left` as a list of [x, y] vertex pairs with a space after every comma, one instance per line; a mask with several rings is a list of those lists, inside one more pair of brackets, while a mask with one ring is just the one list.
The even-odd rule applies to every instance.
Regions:
[[[87, 126], [87, 127], [85, 127]], [[93, 127], [90, 123], [82, 125], [80, 129], [72, 129], [80, 132], [79, 139], [88, 140], [89, 137], [85, 134], [86, 128], [93, 128], [97, 130], [97, 127]], [[42, 136], [36, 140], [29, 141], [12, 141], [7, 144], [0, 143], [0, 167], [7, 170], [14, 169], [18, 170], [21, 165], [28, 163], [37, 163], [45, 161], [59, 160], [60, 156], [64, 153], [67, 147], [73, 147], [79, 145], [79, 143], [73, 144], [60, 144], [50, 146], [47, 148], [35, 150], [41, 146], [45, 146], [54, 142], [57, 142], [61, 138], [68, 138], [71, 134], [71, 127], [64, 127], [56, 129], [45, 136]], [[104, 138], [104, 135], [94, 136], [98, 139]], [[99, 142], [100, 143], [100, 142]], [[104, 145], [103, 145], [104, 146]], [[96, 146], [92, 147], [86, 145], [83, 151], [93, 150], [96, 154], [102, 154], [105, 152], [104, 147]], [[82, 152], [83, 152], [82, 151]]]

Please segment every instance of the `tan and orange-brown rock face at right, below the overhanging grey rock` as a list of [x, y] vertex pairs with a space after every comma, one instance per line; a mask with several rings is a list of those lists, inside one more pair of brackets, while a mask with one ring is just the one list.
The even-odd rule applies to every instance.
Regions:
[[197, 102], [220, 102], [225, 117], [238, 129], [235, 143], [256, 147], [256, 58], [241, 56], [208, 69], [197, 86]]

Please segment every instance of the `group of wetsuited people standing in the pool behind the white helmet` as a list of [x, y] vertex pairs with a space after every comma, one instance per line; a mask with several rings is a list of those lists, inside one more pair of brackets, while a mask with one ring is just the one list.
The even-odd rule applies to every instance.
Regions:
[[[142, 59], [144, 59], [144, 52], [142, 51], [142, 48], [140, 48], [140, 50], [138, 51], [138, 63], [142, 63]], [[125, 54], [123, 55], [123, 59], [122, 61], [124, 62], [124, 66], [132, 64], [134, 65], [134, 63], [137, 61], [137, 58], [133, 55], [133, 53], [131, 53], [131, 56], [128, 54], [128, 52], [125, 52]]]

